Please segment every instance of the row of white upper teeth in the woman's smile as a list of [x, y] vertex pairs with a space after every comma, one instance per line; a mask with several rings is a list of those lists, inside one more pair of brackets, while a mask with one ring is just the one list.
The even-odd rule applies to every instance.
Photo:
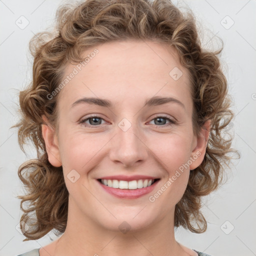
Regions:
[[153, 179], [139, 179], [139, 180], [117, 180], [117, 179], [101, 179], [100, 182], [104, 185], [120, 188], [120, 189], [137, 189], [150, 186], [153, 183]]

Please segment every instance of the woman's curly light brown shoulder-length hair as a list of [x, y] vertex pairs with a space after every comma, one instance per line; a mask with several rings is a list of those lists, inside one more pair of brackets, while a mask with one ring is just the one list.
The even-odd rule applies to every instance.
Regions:
[[[42, 115], [56, 125], [59, 93], [54, 97], [47, 95], [60, 83], [64, 68], [82, 60], [84, 49], [130, 38], [174, 47], [190, 77], [194, 134], [198, 135], [205, 121], [211, 119], [203, 161], [190, 171], [174, 214], [175, 227], [196, 233], [206, 230], [207, 223], [200, 211], [201, 197], [221, 184], [223, 166], [228, 166], [232, 158], [228, 153], [235, 152], [239, 157], [239, 152], [231, 148], [232, 136], [225, 134], [234, 114], [217, 56], [223, 44], [217, 51], [203, 49], [192, 12], [181, 12], [170, 0], [86, 0], [60, 6], [54, 31], [37, 33], [29, 42], [34, 58], [32, 81], [19, 93], [22, 116], [14, 125], [18, 127], [20, 148], [24, 151], [23, 145], [30, 139], [37, 150], [37, 158], [24, 162], [18, 169], [26, 188], [26, 194], [18, 196], [24, 212], [20, 218], [20, 228], [27, 237], [24, 240], [38, 239], [52, 229], [55, 234], [62, 234], [67, 222], [68, 191], [62, 166], [49, 163], [41, 132]], [[29, 206], [25, 208], [26, 201]]]

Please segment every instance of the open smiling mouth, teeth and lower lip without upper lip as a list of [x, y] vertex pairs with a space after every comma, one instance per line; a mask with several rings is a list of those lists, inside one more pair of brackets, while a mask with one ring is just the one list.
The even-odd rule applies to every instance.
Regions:
[[97, 179], [103, 191], [121, 198], [135, 199], [152, 192], [160, 178], [146, 178], [134, 180]]

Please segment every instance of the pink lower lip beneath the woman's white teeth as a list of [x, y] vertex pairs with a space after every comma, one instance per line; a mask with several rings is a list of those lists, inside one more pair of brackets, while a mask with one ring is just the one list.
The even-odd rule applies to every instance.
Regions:
[[150, 193], [154, 189], [154, 187], [156, 186], [158, 181], [159, 181], [159, 179], [156, 180], [152, 185], [143, 187], [143, 188], [120, 189], [120, 188], [106, 186], [97, 180], [97, 182], [99, 182], [101, 187], [109, 194], [112, 194], [118, 198], [126, 198], [126, 199], [135, 199], [135, 198], [138, 198], [140, 196]]

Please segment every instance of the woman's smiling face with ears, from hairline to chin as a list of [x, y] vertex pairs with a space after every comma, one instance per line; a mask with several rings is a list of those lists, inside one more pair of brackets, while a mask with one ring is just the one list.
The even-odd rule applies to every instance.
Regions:
[[59, 92], [54, 139], [43, 128], [49, 161], [63, 167], [68, 214], [109, 230], [173, 222], [204, 145], [192, 131], [187, 70], [159, 42], [108, 42], [88, 54], [84, 67], [65, 69], [63, 80], [75, 74]]

